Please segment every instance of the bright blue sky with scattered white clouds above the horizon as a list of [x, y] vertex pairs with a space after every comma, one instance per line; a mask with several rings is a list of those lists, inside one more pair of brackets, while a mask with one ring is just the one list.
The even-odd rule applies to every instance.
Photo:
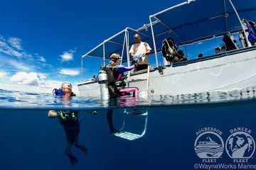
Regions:
[[[82, 55], [126, 27], [149, 23], [150, 14], [177, 3], [2, 0], [0, 89], [50, 93], [61, 81], [76, 86]], [[85, 75], [98, 70], [94, 62]]]

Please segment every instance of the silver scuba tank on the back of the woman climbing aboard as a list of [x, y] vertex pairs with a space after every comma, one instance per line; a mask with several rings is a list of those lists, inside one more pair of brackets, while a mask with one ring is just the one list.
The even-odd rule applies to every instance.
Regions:
[[108, 100], [110, 98], [109, 90], [107, 88], [107, 72], [100, 70], [98, 75], [100, 84], [100, 97], [102, 100]]

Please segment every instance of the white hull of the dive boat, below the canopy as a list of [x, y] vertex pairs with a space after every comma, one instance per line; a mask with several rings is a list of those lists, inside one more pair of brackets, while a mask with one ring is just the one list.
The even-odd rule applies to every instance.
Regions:
[[[175, 63], [163, 67], [162, 74], [157, 69], [149, 74], [147, 72], [131, 74], [127, 85], [137, 87], [139, 96], [142, 97], [245, 89], [256, 84], [255, 49], [255, 47], [247, 47], [220, 55]], [[100, 96], [100, 88], [96, 81], [78, 85], [78, 88], [80, 96]]]

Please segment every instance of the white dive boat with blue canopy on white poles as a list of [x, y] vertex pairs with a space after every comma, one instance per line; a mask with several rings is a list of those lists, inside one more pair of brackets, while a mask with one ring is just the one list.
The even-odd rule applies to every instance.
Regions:
[[[127, 87], [137, 87], [139, 96], [245, 89], [255, 86], [256, 46], [249, 42], [241, 18], [256, 21], [256, 1], [188, 0], [149, 16], [150, 23], [142, 28], [126, 28], [104, 40], [83, 55], [82, 60], [85, 57], [102, 57], [102, 61], [107, 61], [112, 53], [117, 52], [122, 56], [122, 64], [129, 66], [129, 47], [134, 43], [132, 37], [139, 33], [142, 41], [152, 47], [156, 61], [154, 68], [127, 74]], [[170, 37], [179, 47], [186, 47], [227, 33], [245, 35], [240, 38], [240, 47], [187, 62], [169, 63], [161, 57], [165, 38]], [[246, 45], [242, 45], [242, 41]], [[160, 64], [159, 61], [163, 62]], [[97, 79], [80, 82], [78, 89], [80, 96], [100, 96]]]

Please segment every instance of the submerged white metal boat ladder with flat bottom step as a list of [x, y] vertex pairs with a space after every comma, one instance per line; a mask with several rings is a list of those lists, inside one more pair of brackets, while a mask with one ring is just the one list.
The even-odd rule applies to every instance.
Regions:
[[[127, 116], [139, 116], [144, 118], [144, 130], [142, 130], [141, 133], [135, 133], [135, 132], [128, 132], [125, 130], [125, 125], [127, 125]], [[119, 132], [113, 133], [116, 137], [121, 137], [125, 140], [137, 140], [140, 137], [143, 137], [146, 133], [146, 127], [147, 127], [147, 119], [148, 119], [148, 110], [146, 111], [140, 111], [137, 108], [125, 108], [124, 109], [124, 120], [122, 124], [122, 128], [119, 130]]]

